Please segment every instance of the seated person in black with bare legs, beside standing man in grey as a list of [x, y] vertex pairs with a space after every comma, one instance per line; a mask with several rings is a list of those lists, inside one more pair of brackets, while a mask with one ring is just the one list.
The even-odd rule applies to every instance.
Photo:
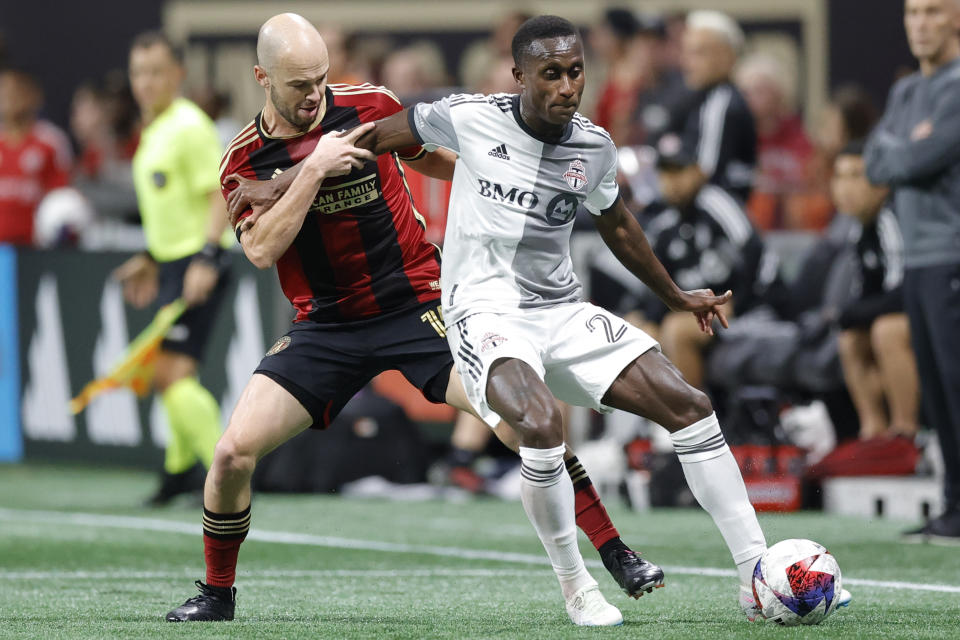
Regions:
[[[903, 239], [885, 208], [889, 189], [871, 185], [863, 167], [863, 142], [837, 156], [833, 199], [860, 221], [856, 295], [840, 309], [843, 376], [860, 418], [860, 438], [917, 433], [919, 383], [903, 307]], [[889, 412], [889, 418], [888, 418]]]

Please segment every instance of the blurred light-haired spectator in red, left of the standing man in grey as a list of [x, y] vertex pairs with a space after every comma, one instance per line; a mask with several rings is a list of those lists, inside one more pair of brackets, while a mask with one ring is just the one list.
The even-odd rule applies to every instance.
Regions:
[[767, 54], [746, 58], [737, 70], [757, 126], [757, 172], [747, 209], [761, 229], [822, 229], [828, 220], [809, 219], [803, 206], [811, 189], [813, 145], [797, 113], [796, 78]]

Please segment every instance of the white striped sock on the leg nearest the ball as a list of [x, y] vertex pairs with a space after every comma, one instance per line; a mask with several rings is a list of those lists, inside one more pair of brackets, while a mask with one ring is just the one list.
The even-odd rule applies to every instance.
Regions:
[[683, 475], [727, 543], [740, 583], [749, 585], [753, 567], [766, 550], [763, 530], [747, 498], [740, 467], [720, 432], [717, 414], [670, 434]]

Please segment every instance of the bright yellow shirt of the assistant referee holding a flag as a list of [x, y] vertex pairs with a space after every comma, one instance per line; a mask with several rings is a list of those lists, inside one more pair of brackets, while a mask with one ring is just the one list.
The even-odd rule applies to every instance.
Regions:
[[220, 189], [220, 153], [213, 121], [186, 98], [174, 100], [140, 134], [133, 183], [155, 260], [169, 262], [203, 248], [210, 193]]

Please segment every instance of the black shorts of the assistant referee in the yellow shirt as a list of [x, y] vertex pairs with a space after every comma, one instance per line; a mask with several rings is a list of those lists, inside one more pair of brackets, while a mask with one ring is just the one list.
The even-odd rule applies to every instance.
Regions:
[[[158, 305], [162, 307], [183, 295], [183, 276], [187, 273], [187, 267], [192, 260], [193, 256], [187, 256], [158, 264], [160, 278], [157, 292]], [[228, 260], [227, 256], [221, 257], [220, 279], [210, 297], [203, 304], [190, 307], [183, 312], [163, 339], [161, 343], [163, 349], [188, 355], [197, 362], [203, 359], [213, 323], [217, 319], [217, 310], [223, 305], [227, 287], [230, 284]]]

